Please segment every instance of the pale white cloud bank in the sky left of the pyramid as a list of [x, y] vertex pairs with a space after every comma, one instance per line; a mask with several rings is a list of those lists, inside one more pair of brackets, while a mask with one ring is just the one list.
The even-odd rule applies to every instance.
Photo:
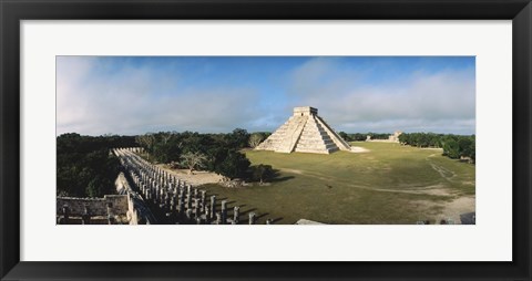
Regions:
[[[103, 71], [95, 59], [58, 59], [58, 134], [231, 132], [256, 116], [252, 89], [182, 89], [149, 67]], [[109, 72], [109, 73], [108, 73]]]

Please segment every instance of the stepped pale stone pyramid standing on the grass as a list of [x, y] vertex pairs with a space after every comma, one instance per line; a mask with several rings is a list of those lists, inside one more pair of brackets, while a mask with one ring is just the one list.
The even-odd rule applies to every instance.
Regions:
[[255, 149], [330, 154], [351, 147], [318, 116], [317, 108], [303, 106], [294, 107], [294, 115]]

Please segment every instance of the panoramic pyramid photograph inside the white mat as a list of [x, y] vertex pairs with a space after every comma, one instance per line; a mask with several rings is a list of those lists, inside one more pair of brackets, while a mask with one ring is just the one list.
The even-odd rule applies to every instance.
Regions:
[[55, 79], [57, 225], [475, 225], [475, 56], [58, 55]]

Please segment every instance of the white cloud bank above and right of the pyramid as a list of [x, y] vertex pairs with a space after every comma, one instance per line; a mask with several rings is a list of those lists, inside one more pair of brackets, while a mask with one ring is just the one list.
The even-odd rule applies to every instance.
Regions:
[[359, 83], [362, 75], [318, 59], [294, 72], [290, 93], [299, 97], [299, 105], [318, 107], [339, 131], [474, 133], [471, 70], [420, 71], [402, 81], [375, 84]]

